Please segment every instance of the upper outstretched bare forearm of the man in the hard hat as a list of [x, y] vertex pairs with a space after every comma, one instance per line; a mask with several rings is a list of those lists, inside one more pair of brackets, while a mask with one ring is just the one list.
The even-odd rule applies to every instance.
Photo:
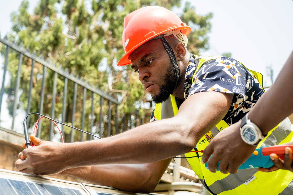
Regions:
[[[68, 161], [74, 167], [151, 163], [180, 155], [193, 148], [187, 144], [188, 140], [182, 135], [181, 128], [179, 123], [172, 119], [160, 120], [112, 137], [69, 143], [64, 151], [75, 154], [75, 158]], [[178, 139], [180, 137], [181, 139]]]

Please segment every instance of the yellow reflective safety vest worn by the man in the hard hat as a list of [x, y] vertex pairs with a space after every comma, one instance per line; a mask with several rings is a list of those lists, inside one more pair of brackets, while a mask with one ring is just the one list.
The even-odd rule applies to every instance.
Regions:
[[[214, 57], [198, 57], [195, 58], [196, 70], [208, 60], [219, 58]], [[246, 68], [246, 67], [245, 67]], [[249, 70], [249, 69], [247, 69]], [[263, 76], [255, 71], [249, 70], [255, 78], [258, 79], [261, 87]], [[263, 87], [262, 87], [263, 88]], [[178, 113], [175, 96], [170, 96], [168, 100], [157, 103], [154, 110], [154, 116], [157, 120], [163, 118], [171, 118]], [[213, 127], [200, 141], [196, 144], [197, 150], [204, 150], [214, 136], [229, 125], [221, 120]], [[291, 130], [291, 122], [288, 118], [283, 120], [279, 125], [273, 128], [268, 135], [257, 146], [273, 146], [284, 144], [292, 141], [293, 132]], [[194, 151], [194, 149], [192, 150]], [[185, 153], [185, 157], [196, 156], [194, 152]], [[277, 170], [269, 173], [260, 172], [257, 168], [238, 170], [236, 174], [223, 174], [220, 171], [216, 173], [210, 172], [201, 163], [201, 157], [187, 158], [188, 163], [198, 176], [202, 184], [210, 191], [211, 194], [220, 195], [239, 195], [239, 194], [255, 194], [255, 195], [289, 195], [293, 194], [293, 173], [286, 170]]]

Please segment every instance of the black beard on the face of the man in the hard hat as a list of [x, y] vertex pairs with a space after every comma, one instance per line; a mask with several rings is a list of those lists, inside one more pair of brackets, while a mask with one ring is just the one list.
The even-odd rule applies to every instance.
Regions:
[[159, 94], [151, 96], [155, 103], [162, 103], [163, 101], [166, 101], [177, 87], [176, 71], [171, 63], [168, 65], [166, 74], [163, 77], [165, 84], [156, 83], [159, 85]]

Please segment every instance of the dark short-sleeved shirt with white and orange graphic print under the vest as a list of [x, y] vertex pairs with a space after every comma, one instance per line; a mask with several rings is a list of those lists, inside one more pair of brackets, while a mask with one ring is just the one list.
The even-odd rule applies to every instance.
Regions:
[[[195, 93], [205, 91], [234, 94], [229, 111], [223, 120], [228, 125], [238, 122], [263, 94], [260, 83], [240, 62], [224, 56], [209, 57], [214, 59], [204, 62], [195, 72], [195, 57], [197, 56], [190, 56], [186, 69], [184, 100]], [[178, 108], [184, 100], [176, 97]], [[153, 110], [150, 121], [154, 120], [156, 118]]]

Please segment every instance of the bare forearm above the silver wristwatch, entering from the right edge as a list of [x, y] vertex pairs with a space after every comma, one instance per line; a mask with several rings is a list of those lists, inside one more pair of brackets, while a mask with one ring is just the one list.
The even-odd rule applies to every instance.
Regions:
[[249, 119], [263, 134], [293, 113], [293, 52], [280, 71], [275, 83], [249, 112]]

